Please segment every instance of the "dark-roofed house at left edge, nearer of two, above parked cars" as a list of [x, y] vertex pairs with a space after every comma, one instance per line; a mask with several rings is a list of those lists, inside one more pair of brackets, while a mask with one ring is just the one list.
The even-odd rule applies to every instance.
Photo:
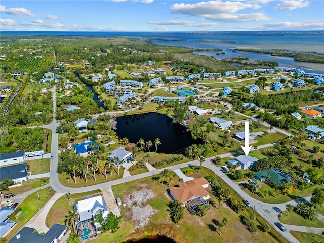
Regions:
[[2, 167], [0, 170], [0, 182], [5, 178], [13, 180], [14, 183], [19, 183], [28, 180], [27, 163]]

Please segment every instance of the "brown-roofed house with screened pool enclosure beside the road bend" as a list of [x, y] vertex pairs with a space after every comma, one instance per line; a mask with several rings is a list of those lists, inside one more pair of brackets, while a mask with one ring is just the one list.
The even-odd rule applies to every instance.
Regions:
[[200, 204], [209, 205], [208, 200], [211, 195], [205, 189], [209, 185], [204, 177], [196, 178], [187, 182], [181, 182], [170, 188], [170, 196], [178, 200], [189, 212], [196, 211]]

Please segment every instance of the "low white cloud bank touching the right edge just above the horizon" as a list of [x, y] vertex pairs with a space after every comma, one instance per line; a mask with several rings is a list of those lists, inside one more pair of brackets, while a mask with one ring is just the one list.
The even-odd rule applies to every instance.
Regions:
[[324, 30], [324, 20], [308, 20], [303, 22], [278, 22], [265, 24], [268, 30]]

